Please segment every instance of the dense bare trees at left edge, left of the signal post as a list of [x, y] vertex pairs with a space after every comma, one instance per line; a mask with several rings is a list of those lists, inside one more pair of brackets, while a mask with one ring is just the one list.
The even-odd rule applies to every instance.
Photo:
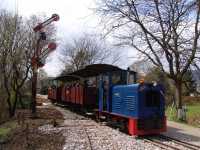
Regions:
[[[0, 12], [0, 21], [1, 83], [7, 95], [9, 115], [12, 117], [15, 114], [17, 102], [19, 101], [23, 106], [22, 89], [28, 77], [31, 76], [31, 58], [37, 39], [32, 28], [36, 21], [33, 17], [25, 20], [17, 14], [6, 11]], [[42, 44], [46, 44], [45, 42]]]

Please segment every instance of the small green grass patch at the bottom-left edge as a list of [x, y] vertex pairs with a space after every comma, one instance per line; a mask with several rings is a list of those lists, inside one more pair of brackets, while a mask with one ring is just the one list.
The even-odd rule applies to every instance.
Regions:
[[0, 126], [0, 140], [7, 140], [12, 130], [17, 127], [16, 121], [8, 121]]

